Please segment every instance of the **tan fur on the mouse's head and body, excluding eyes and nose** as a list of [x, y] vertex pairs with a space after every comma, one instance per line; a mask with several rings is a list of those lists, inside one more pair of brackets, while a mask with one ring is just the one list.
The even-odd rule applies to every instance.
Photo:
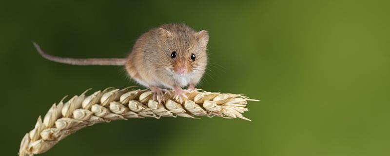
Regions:
[[[125, 67], [130, 77], [146, 87], [173, 89], [196, 85], [207, 65], [207, 31], [195, 32], [184, 24], [164, 24], [137, 39]], [[176, 51], [175, 59], [171, 53]], [[193, 61], [191, 55], [195, 54]], [[185, 67], [180, 76], [177, 69]]]

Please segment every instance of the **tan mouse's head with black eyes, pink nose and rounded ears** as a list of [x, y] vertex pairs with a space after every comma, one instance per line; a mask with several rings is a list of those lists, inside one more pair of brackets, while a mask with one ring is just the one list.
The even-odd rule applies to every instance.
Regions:
[[[172, 76], [201, 77], [207, 65], [207, 31], [194, 31], [184, 24], [163, 25], [157, 29], [165, 68]], [[200, 78], [199, 78], [200, 79]]]

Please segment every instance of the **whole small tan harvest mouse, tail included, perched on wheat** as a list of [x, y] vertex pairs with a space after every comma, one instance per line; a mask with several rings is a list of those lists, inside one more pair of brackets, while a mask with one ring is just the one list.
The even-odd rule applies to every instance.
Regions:
[[175, 97], [186, 97], [181, 87], [194, 90], [207, 65], [207, 31], [196, 32], [185, 24], [164, 24], [141, 35], [127, 59], [74, 59], [39, 54], [51, 61], [73, 65], [124, 65], [128, 75], [149, 87], [161, 102], [163, 91], [173, 89]]

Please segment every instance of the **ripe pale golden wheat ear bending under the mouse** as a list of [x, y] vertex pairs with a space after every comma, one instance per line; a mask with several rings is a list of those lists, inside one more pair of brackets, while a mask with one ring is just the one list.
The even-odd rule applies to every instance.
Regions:
[[144, 117], [224, 117], [242, 118], [247, 101], [258, 101], [243, 95], [221, 94], [195, 90], [186, 93], [188, 99], [173, 98], [174, 92], [167, 91], [164, 101], [153, 100], [149, 90], [107, 88], [86, 97], [85, 91], [69, 101], [53, 104], [43, 117], [38, 117], [35, 128], [27, 133], [21, 143], [19, 156], [33, 156], [44, 153], [61, 139], [95, 123], [113, 120]]

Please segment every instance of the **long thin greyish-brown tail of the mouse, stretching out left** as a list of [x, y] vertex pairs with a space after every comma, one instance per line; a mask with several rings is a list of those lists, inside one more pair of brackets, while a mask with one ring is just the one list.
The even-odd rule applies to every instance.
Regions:
[[110, 58], [110, 59], [98, 59], [98, 58], [91, 58], [91, 59], [74, 59], [74, 58], [61, 58], [57, 56], [52, 56], [49, 54], [46, 54], [45, 52], [40, 49], [39, 45], [35, 42], [33, 42], [35, 48], [37, 49], [38, 53], [45, 59], [59, 62], [59, 63], [65, 63], [65, 64], [72, 64], [72, 65], [124, 65], [126, 62], [126, 59], [118, 59], [118, 58]]

